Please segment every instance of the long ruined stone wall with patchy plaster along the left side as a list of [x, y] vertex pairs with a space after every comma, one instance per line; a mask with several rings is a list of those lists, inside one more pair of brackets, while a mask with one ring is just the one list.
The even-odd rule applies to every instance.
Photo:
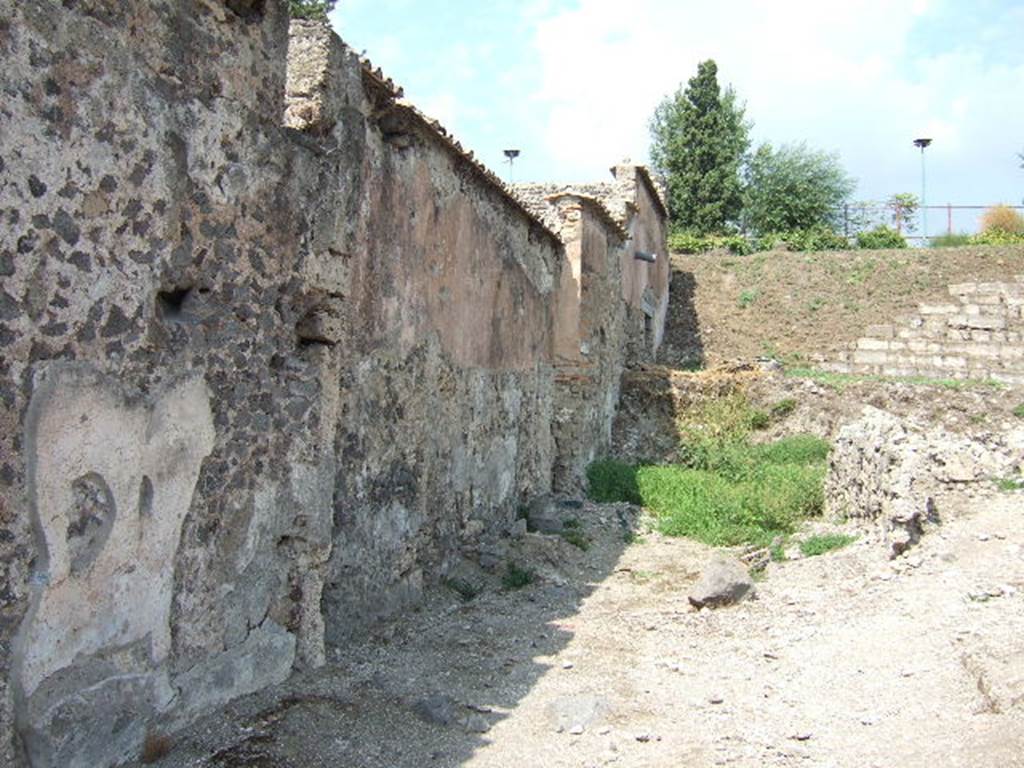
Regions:
[[527, 204], [279, 0], [0, 0], [0, 765], [135, 756], [579, 484], [660, 340], [642, 169]]

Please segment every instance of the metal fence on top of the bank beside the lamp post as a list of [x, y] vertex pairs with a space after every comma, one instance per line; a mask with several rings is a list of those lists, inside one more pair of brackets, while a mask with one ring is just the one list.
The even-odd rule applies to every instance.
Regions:
[[[859, 203], [848, 205], [843, 210], [843, 233], [848, 238], [859, 231], [871, 229], [880, 224], [891, 226], [903, 234], [908, 241], [924, 242], [940, 234], [956, 234], [964, 232], [974, 234], [979, 229], [979, 220], [990, 205], [928, 205], [919, 206], [913, 211], [901, 210], [899, 206], [890, 203]], [[1006, 206], [1024, 214], [1024, 206]], [[927, 214], [928, 232], [922, 227], [922, 212]], [[909, 215], [907, 215], [909, 213]]]

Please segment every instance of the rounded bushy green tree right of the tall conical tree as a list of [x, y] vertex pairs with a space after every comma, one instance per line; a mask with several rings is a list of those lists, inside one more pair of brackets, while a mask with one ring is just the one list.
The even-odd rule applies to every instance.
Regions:
[[745, 169], [743, 222], [757, 234], [838, 226], [856, 181], [838, 154], [806, 143], [758, 147]]

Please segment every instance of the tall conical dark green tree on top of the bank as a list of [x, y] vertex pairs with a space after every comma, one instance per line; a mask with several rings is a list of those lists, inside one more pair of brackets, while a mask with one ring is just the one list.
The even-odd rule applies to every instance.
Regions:
[[668, 187], [675, 229], [722, 233], [738, 222], [750, 129], [735, 92], [719, 88], [711, 59], [700, 62], [685, 90], [680, 86], [654, 111], [651, 166]]

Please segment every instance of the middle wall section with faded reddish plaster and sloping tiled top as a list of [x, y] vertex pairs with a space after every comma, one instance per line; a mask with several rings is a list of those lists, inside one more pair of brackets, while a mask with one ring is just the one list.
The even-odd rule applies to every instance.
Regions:
[[291, 69], [289, 122], [314, 142], [310, 162], [359, 169], [349, 181], [361, 190], [310, 201], [314, 218], [357, 222], [354, 237], [335, 223], [314, 243], [347, 264], [324, 594], [329, 639], [342, 642], [550, 489], [563, 253], [336, 36], [294, 23]]

